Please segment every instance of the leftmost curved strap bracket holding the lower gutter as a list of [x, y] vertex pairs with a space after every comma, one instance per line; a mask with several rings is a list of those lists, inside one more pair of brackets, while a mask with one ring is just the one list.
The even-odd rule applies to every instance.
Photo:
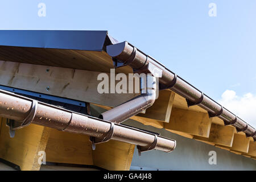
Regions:
[[10, 127], [10, 137], [13, 138], [15, 135], [15, 130], [21, 129], [22, 127], [25, 127], [27, 125], [30, 125], [30, 123], [34, 120], [36, 115], [36, 110], [38, 108], [38, 101], [31, 100], [32, 101], [32, 107], [30, 109], [30, 113], [28, 113], [27, 117], [23, 119], [23, 121], [14, 121], [13, 119], [7, 119], [6, 125]]

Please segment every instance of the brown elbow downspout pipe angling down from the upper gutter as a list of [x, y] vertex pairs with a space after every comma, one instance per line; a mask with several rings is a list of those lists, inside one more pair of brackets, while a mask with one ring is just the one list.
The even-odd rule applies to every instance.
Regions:
[[100, 115], [100, 118], [106, 121], [121, 123], [152, 106], [156, 100], [156, 78], [151, 75], [144, 75], [144, 77], [141, 77], [140, 85], [141, 95], [105, 111]]

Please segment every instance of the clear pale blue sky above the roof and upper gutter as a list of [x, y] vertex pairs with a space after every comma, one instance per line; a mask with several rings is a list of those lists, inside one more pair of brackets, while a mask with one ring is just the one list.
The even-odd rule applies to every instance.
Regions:
[[[46, 4], [46, 17], [38, 4]], [[208, 15], [216, 3], [217, 16]], [[1, 30], [108, 30], [214, 100], [256, 94], [256, 1], [0, 1]]]

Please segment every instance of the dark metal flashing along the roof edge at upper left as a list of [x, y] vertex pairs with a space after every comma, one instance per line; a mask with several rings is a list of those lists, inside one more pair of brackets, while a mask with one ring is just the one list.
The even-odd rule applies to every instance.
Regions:
[[0, 46], [102, 51], [108, 31], [0, 30]]

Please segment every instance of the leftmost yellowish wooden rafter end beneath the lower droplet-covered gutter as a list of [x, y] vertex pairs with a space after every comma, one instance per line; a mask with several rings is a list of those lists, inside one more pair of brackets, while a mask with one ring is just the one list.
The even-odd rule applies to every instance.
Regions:
[[14, 163], [22, 170], [39, 170], [40, 151], [45, 151], [50, 130], [48, 127], [31, 124], [15, 131], [10, 138], [9, 127], [2, 118], [0, 134], [0, 158]]

